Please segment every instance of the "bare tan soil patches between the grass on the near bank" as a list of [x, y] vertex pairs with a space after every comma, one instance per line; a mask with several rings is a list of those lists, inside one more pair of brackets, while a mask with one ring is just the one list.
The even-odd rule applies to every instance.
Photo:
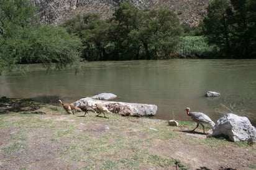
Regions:
[[[2, 104], [6, 107], [6, 104]], [[30, 111], [34, 112], [34, 104], [30, 105]], [[25, 105], [28, 107], [28, 105]], [[59, 108], [59, 107], [52, 107]], [[54, 109], [53, 109], [54, 110]], [[58, 109], [57, 109], [58, 110]], [[17, 107], [16, 107], [17, 111]], [[63, 110], [61, 110], [63, 111]], [[11, 112], [9, 110], [8, 112]], [[37, 112], [34, 112], [37, 113]], [[24, 132], [25, 129], [21, 129], [22, 125], [14, 124], [7, 125], [0, 129], [0, 169], [80, 169], [85, 164], [89, 164], [89, 159], [85, 161], [72, 161], [66, 156], [66, 147], [68, 143], [79, 142], [79, 139], [71, 138], [68, 136], [62, 137], [61, 140], [53, 139], [52, 134], [56, 134], [55, 130], [63, 130], [63, 121], [66, 125], [73, 125], [75, 132], [78, 134], [91, 135], [94, 138], [100, 138], [104, 133], [114, 131], [119, 136], [132, 136], [132, 138], [147, 139], [150, 138], [149, 133], [141, 133], [142, 129], [147, 127], [158, 127], [162, 125], [162, 120], [152, 120], [145, 118], [131, 118], [121, 117], [117, 115], [109, 116], [109, 119], [103, 117], [80, 117], [83, 114], [67, 115], [67, 114], [52, 114], [43, 110], [42, 115], [38, 115], [41, 120], [51, 120], [54, 122], [54, 129], [47, 128], [45, 125], [42, 127], [32, 128], [33, 130], [26, 133], [25, 139], [21, 139], [19, 133]], [[3, 117], [4, 115], [4, 117]], [[10, 114], [11, 115], [11, 114]], [[32, 117], [33, 118], [33, 117]], [[30, 121], [30, 116], [10, 116], [6, 117], [6, 114], [0, 114], [0, 122], [14, 123], [16, 121]], [[86, 122], [81, 122], [81, 119]], [[91, 120], [89, 120], [91, 119]], [[111, 120], [112, 119], [112, 120]], [[93, 122], [89, 122], [93, 121]], [[98, 122], [99, 121], [99, 122]], [[3, 122], [2, 122], [3, 123]], [[121, 124], [122, 123], [122, 124]], [[125, 127], [127, 124], [129, 127]], [[120, 127], [124, 125], [124, 127]], [[155, 126], [154, 126], [155, 125]], [[32, 125], [31, 125], [32, 126]], [[115, 127], [119, 127], [122, 130], [115, 130]], [[141, 128], [140, 128], [141, 127]], [[162, 126], [163, 127], [163, 126]], [[221, 141], [220, 145], [209, 145], [207, 143], [206, 135], [200, 133], [202, 130], [198, 129], [196, 132], [191, 133], [188, 127], [181, 126], [172, 128], [170, 126], [164, 126], [163, 129], [167, 132], [173, 132], [176, 134], [174, 138], [163, 140], [162, 138], [152, 139], [152, 145], [146, 145], [146, 143], [138, 143], [139, 148], [143, 148], [147, 151], [147, 154], [157, 155], [161, 158], [173, 158], [180, 160], [182, 164], [187, 165], [188, 169], [254, 169], [256, 166], [256, 147], [252, 146], [237, 146], [231, 141]], [[154, 128], [150, 128], [152, 132]], [[150, 131], [151, 132], [151, 131]], [[13, 146], [14, 139], [19, 141], [25, 141], [25, 146], [18, 146], [15, 151], [5, 151], [8, 146]], [[128, 137], [127, 137], [128, 138]], [[131, 140], [131, 138], [129, 138]], [[76, 141], [77, 140], [77, 141]], [[86, 139], [85, 139], [86, 141]], [[211, 140], [209, 140], [211, 142]], [[109, 138], [109, 145], [118, 145], [114, 138]], [[128, 143], [129, 141], [127, 141]], [[214, 140], [212, 141], [214, 142]], [[17, 142], [18, 143], [18, 142]], [[88, 142], [89, 143], [89, 142]], [[219, 141], [217, 142], [219, 143]], [[150, 147], [149, 147], [150, 146]], [[27, 148], [26, 148], [27, 147]], [[137, 149], [138, 150], [138, 149]], [[81, 154], [84, 154], [81, 151]], [[126, 158], [127, 155], [132, 154], [130, 148], [124, 147], [119, 153], [104, 153], [99, 154], [99, 158], [90, 158], [103, 162], [104, 159], [117, 160]], [[85, 155], [86, 157], [86, 155]], [[119, 169], [109, 168], [109, 169]], [[93, 166], [91, 169], [101, 169], [101, 166]], [[106, 169], [106, 168], [105, 168]], [[122, 168], [126, 169], [126, 168]], [[178, 166], [154, 166], [153, 164], [142, 163], [134, 169], [180, 169]], [[185, 168], [183, 168], [185, 169]]]

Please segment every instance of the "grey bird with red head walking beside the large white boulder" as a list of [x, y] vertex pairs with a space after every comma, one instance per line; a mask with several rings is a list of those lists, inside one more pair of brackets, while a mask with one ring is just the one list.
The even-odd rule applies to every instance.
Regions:
[[[202, 125], [203, 130], [204, 130], [204, 125], [203, 123], [206, 123], [208, 125], [211, 125], [212, 127], [214, 127], [215, 123], [213, 122], [213, 120], [211, 120], [208, 115], [203, 114], [201, 112], [190, 112], [190, 107], [186, 107], [186, 114], [188, 116], [191, 117], [192, 120], [194, 120], [194, 122], [198, 123], [196, 125], [196, 128], [198, 128], [199, 124]], [[196, 130], [196, 128], [194, 128], [193, 130], [191, 130], [192, 132], [194, 130]]]

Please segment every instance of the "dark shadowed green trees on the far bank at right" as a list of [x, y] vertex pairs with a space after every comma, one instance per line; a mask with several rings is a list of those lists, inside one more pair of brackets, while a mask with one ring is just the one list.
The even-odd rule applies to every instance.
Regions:
[[255, 57], [256, 2], [214, 0], [204, 17], [204, 35], [231, 57]]

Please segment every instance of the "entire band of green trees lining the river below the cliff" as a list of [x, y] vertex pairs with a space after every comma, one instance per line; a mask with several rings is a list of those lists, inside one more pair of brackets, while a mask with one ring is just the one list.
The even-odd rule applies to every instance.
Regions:
[[180, 25], [175, 11], [141, 11], [124, 2], [109, 19], [88, 13], [54, 26], [40, 24], [28, 0], [1, 1], [0, 73], [21, 63], [61, 69], [81, 58], [255, 58], [255, 9], [255, 0], [214, 0], [201, 24], [190, 27]]

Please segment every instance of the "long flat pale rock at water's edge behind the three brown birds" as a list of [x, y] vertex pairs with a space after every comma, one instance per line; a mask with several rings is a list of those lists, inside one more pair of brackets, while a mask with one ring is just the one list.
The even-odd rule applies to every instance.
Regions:
[[126, 115], [126, 116], [153, 116], [157, 113], [157, 105], [154, 104], [138, 104], [129, 102], [116, 102], [116, 101], [103, 101], [98, 99], [92, 99], [91, 97], [85, 97], [76, 102], [73, 105], [78, 105], [78, 102], [88, 103], [88, 105], [94, 105], [96, 103], [101, 103], [109, 111], [116, 114]]

